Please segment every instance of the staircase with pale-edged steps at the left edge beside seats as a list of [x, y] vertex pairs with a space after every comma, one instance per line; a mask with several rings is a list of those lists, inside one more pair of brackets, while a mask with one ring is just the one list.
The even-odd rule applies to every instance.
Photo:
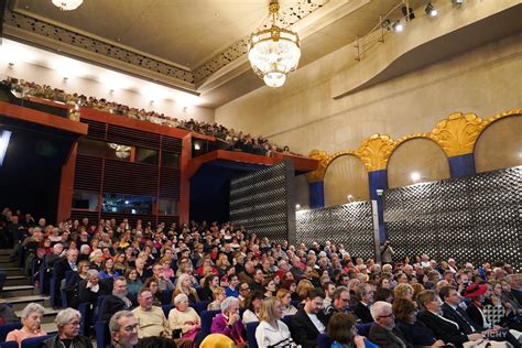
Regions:
[[58, 311], [50, 306], [48, 296], [40, 295], [40, 290], [31, 284], [31, 278], [23, 273], [23, 269], [19, 267], [18, 261], [9, 260], [11, 251], [11, 249], [0, 249], [0, 271], [7, 273], [6, 283], [0, 293], [0, 303], [10, 303], [19, 317], [29, 303], [41, 304], [45, 308], [42, 328], [47, 334], [55, 334], [54, 317]]

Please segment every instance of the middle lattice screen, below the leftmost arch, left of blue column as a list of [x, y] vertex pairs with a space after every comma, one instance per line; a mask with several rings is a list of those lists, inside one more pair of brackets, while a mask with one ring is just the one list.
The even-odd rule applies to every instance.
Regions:
[[352, 257], [374, 258], [374, 238], [369, 202], [351, 203], [296, 214], [296, 239], [309, 246], [329, 240], [342, 243]]

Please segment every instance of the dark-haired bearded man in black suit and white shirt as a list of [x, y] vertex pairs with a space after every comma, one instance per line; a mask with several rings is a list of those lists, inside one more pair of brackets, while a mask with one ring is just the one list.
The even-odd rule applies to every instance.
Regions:
[[306, 294], [304, 307], [292, 317], [292, 337], [302, 348], [317, 347], [317, 336], [326, 331], [323, 315], [324, 297], [325, 294], [320, 289], [311, 289]]

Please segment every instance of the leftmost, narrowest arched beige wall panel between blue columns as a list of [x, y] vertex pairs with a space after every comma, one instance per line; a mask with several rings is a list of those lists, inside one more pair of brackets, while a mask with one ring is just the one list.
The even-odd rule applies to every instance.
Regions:
[[354, 202], [370, 200], [368, 172], [362, 162], [354, 155], [341, 155], [334, 160], [325, 174], [325, 206], [348, 203], [348, 195]]

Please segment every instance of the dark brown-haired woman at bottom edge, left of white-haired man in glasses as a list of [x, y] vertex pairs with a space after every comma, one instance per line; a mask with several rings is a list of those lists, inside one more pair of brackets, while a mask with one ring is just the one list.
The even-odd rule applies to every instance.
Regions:
[[357, 335], [356, 318], [352, 315], [334, 314], [326, 333], [334, 340], [330, 348], [365, 348], [365, 337]]

